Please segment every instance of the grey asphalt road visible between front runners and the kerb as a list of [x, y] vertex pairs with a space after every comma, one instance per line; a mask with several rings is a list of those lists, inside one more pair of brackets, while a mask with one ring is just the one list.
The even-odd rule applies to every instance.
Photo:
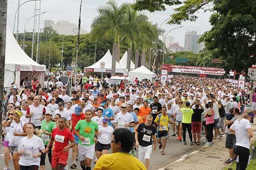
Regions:
[[[152, 151], [150, 169], [156, 170], [158, 168], [166, 166], [169, 163], [172, 163], [175, 160], [179, 159], [182, 155], [188, 154], [188, 153], [193, 152], [193, 151], [199, 149], [200, 147], [202, 147], [202, 144], [190, 146], [188, 134], [186, 136], [187, 136], [187, 145], [183, 145], [183, 141], [177, 141], [176, 140], [177, 137], [170, 136], [167, 139], [165, 155], [161, 155], [160, 150], [158, 148], [156, 151]], [[72, 152], [70, 150], [69, 160], [68, 160], [69, 166], [73, 163], [72, 158], [71, 158], [71, 153]], [[138, 157], [138, 151], [136, 151], [136, 157]], [[2, 169], [4, 169], [4, 154], [3, 154], [2, 146], [1, 146], [0, 161], [1, 161], [0, 170], [2, 170]], [[79, 161], [76, 161], [76, 162], [78, 165], [77, 169], [81, 169], [81, 167], [79, 166], [79, 164], [80, 164]], [[14, 169], [12, 161], [9, 161], [9, 167], [11, 170]], [[93, 169], [93, 167], [94, 167], [94, 162], [92, 162], [92, 169]], [[46, 168], [45, 169], [46, 170], [51, 169], [51, 165], [48, 161], [48, 157], [46, 158]], [[69, 169], [70, 169], [70, 167], [69, 167]]]

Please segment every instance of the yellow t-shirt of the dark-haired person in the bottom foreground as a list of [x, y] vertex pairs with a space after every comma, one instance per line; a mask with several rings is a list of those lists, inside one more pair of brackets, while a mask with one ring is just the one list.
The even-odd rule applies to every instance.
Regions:
[[145, 165], [140, 162], [137, 158], [130, 154], [126, 153], [113, 153], [105, 154], [100, 156], [96, 165], [93, 168], [94, 170], [146, 170]]

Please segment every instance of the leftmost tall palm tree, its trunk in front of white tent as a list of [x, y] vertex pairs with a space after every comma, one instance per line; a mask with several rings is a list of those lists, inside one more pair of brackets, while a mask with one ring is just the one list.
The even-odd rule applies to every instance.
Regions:
[[103, 35], [114, 37], [113, 42], [113, 58], [112, 58], [112, 76], [115, 75], [116, 61], [120, 60], [120, 34], [126, 30], [125, 17], [127, 15], [127, 4], [120, 7], [115, 1], [109, 1], [106, 6], [98, 9], [99, 16], [95, 17], [92, 22], [92, 35], [101, 37]]

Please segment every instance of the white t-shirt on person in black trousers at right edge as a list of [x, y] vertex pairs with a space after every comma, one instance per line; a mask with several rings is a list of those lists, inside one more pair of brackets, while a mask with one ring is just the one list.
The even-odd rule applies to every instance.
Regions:
[[248, 132], [246, 131], [249, 128], [251, 128], [250, 122], [245, 118], [240, 121], [236, 120], [231, 125], [230, 129], [236, 132], [236, 145], [250, 149], [250, 138]]

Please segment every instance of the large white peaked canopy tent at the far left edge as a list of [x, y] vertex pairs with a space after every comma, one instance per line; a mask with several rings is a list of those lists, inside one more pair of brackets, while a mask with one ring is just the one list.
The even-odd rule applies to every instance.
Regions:
[[46, 66], [31, 59], [15, 40], [10, 27], [7, 27], [4, 87], [9, 87], [12, 82], [15, 82], [19, 88], [20, 80], [25, 79], [25, 77], [37, 77], [38, 81], [43, 84], [45, 71]]

